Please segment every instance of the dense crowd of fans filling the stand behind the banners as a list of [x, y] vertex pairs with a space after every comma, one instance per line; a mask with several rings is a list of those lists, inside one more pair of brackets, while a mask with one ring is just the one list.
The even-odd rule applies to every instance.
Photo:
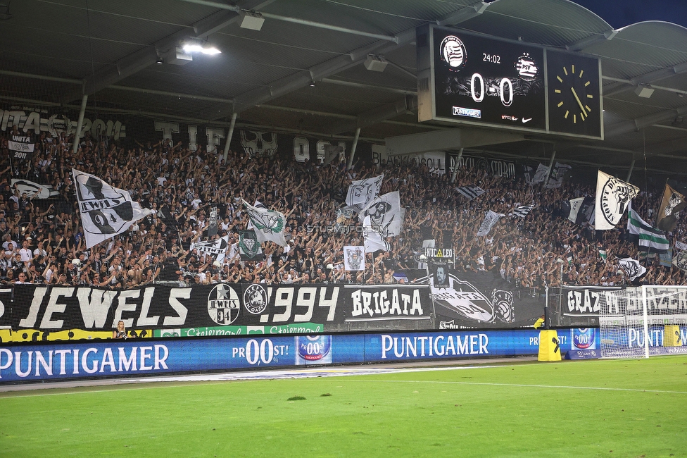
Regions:
[[[624, 285], [617, 257], [638, 259], [636, 242], [624, 229], [595, 231], [576, 225], [561, 213], [561, 204], [593, 196], [595, 183], [571, 179], [546, 189], [522, 179], [460, 169], [434, 175], [422, 164], [389, 162], [353, 166], [343, 161], [321, 165], [277, 157], [250, 157], [229, 151], [191, 151], [179, 142], [136, 142], [123, 147], [106, 139], [82, 139], [76, 154], [70, 137], [43, 133], [32, 161], [12, 163], [3, 139], [0, 146], [0, 280], [3, 283], [70, 284], [126, 288], [147, 283], [179, 285], [219, 282], [248, 283], [395, 283], [394, 273], [418, 268], [425, 261], [423, 241], [452, 247], [455, 270], [491, 272], [520, 287], [544, 285]], [[112, 240], [86, 249], [71, 178], [72, 168], [96, 175], [128, 190], [153, 212]], [[390, 237], [389, 252], [367, 255], [361, 272], [343, 268], [343, 247], [363, 245], [355, 230], [357, 218], [339, 221], [348, 230], [334, 232], [336, 210], [343, 206], [351, 180], [384, 173], [380, 194], [400, 191], [407, 209], [401, 235]], [[50, 184], [59, 195], [37, 199], [21, 194], [12, 178]], [[486, 192], [469, 200], [456, 188], [477, 185]], [[647, 221], [657, 209], [662, 190], [642, 192], [634, 209]], [[258, 200], [287, 216], [286, 247], [263, 244], [263, 261], [241, 261], [238, 231], [248, 227], [241, 200]], [[517, 206], [534, 204], [527, 216], [513, 216]], [[219, 213], [218, 233], [229, 235], [231, 247], [217, 263], [191, 249], [206, 240], [211, 207]], [[163, 211], [160, 211], [163, 210]], [[502, 213], [489, 235], [476, 237], [486, 211]], [[355, 215], [354, 215], [355, 217]], [[351, 230], [351, 228], [353, 228]], [[680, 221], [670, 235], [681, 240], [687, 225]], [[676, 237], [676, 238], [675, 238]], [[682, 285], [681, 269], [648, 266], [645, 283]], [[401, 280], [403, 281], [403, 280]]]

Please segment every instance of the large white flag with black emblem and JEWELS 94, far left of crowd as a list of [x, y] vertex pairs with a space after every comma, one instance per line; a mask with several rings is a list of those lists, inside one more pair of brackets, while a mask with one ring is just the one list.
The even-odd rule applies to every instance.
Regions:
[[72, 169], [86, 248], [123, 233], [151, 213], [134, 202], [129, 192], [108, 185], [100, 178]]

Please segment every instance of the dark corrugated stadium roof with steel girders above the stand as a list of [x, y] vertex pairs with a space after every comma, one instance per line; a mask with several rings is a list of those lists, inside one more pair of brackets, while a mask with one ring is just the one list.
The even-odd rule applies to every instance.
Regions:
[[[339, 138], [360, 128], [384, 142], [452, 129], [417, 121], [415, 29], [426, 24], [602, 62], [605, 140], [529, 135], [476, 149], [687, 175], [687, 29], [614, 30], [567, 0], [0, 0], [0, 101], [78, 108], [85, 93], [99, 111], [225, 125], [237, 113], [239, 126]], [[184, 61], [183, 39], [222, 54]], [[386, 69], [367, 70], [368, 54]]]

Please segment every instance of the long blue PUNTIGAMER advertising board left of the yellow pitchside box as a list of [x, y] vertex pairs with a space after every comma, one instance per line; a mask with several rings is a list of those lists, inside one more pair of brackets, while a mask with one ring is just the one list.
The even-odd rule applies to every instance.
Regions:
[[15, 344], [0, 347], [0, 383], [533, 355], [537, 336], [534, 329], [446, 330]]

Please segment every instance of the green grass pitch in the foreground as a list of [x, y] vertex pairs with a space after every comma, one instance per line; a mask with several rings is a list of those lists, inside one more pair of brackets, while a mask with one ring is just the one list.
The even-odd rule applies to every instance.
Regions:
[[686, 457], [687, 356], [3, 392], [0, 456]]

